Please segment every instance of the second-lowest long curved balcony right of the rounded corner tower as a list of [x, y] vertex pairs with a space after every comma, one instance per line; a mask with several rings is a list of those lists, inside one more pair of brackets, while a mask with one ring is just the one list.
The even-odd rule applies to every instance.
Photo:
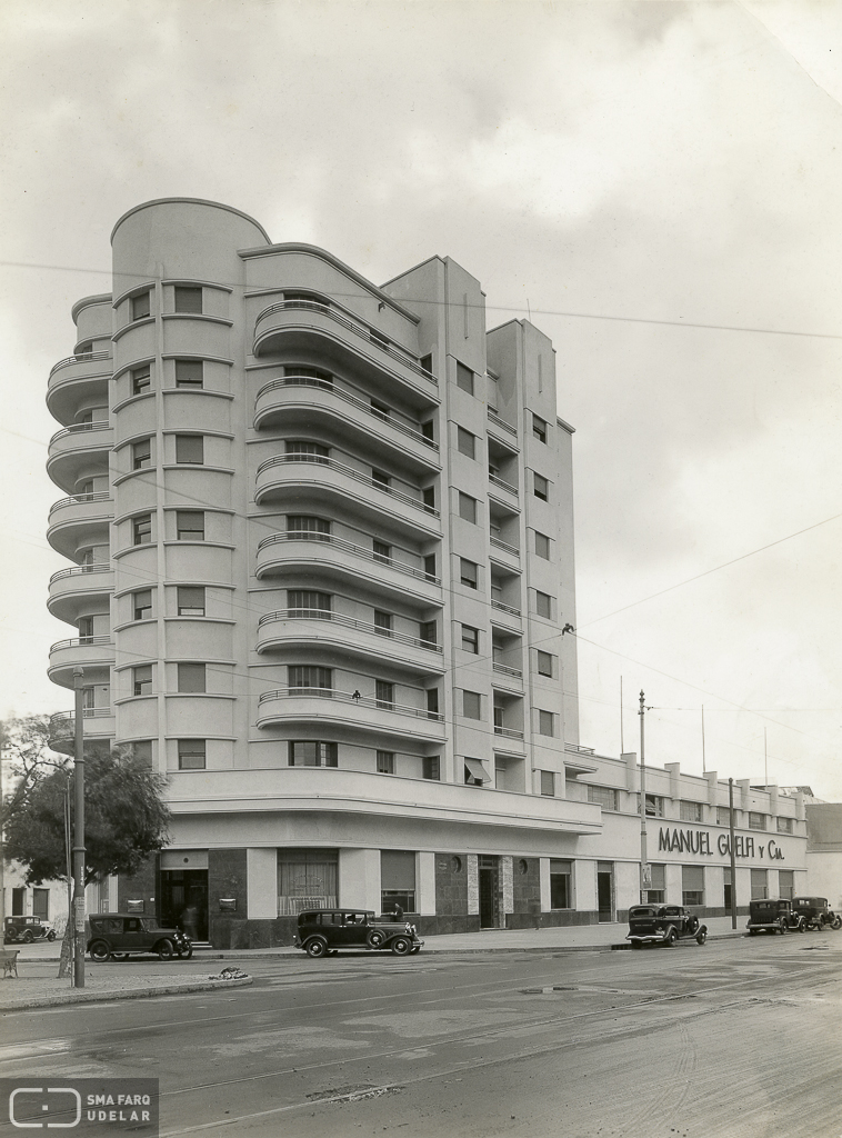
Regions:
[[[347, 635], [347, 629], [354, 632], [353, 637]], [[257, 621], [258, 652], [300, 645], [324, 648], [341, 655], [387, 661], [422, 675], [440, 676], [444, 673], [439, 644], [407, 636], [391, 628], [380, 628], [344, 612], [279, 609], [264, 613]]]

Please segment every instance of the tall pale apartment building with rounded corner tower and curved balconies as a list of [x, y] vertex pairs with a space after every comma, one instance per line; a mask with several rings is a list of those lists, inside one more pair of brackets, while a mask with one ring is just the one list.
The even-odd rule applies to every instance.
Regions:
[[49, 379], [50, 676], [83, 667], [86, 743], [166, 772], [174, 825], [102, 904], [192, 901], [218, 946], [308, 906], [550, 916], [602, 828], [566, 793], [595, 768], [552, 344], [487, 331], [449, 258], [377, 287], [215, 203], [140, 205], [113, 249]]

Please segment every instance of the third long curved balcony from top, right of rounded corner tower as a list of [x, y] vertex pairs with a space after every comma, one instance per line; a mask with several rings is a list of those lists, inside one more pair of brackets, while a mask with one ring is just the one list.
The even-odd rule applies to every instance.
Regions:
[[279, 454], [257, 468], [255, 501], [261, 503], [292, 500], [299, 505], [305, 498], [312, 502], [330, 501], [345, 509], [350, 500], [356, 512], [379, 525], [386, 516], [389, 523], [416, 536], [440, 534], [439, 512], [424, 505], [421, 496], [412, 497], [385, 486], [354, 467], [337, 459], [317, 455]]

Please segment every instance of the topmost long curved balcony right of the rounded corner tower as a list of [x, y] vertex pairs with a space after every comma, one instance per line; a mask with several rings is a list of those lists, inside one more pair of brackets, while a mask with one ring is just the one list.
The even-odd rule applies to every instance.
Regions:
[[312, 351], [372, 378], [387, 372], [420, 396], [420, 405], [438, 403], [436, 378], [419, 356], [332, 300], [281, 300], [258, 313], [255, 356], [286, 351]]

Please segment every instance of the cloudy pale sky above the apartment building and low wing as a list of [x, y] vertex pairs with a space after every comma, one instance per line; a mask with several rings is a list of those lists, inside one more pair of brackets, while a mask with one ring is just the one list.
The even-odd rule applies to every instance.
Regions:
[[126, 209], [200, 197], [551, 336], [580, 742], [638, 750], [643, 690], [647, 762], [842, 801], [842, 3], [3, 0], [0, 44], [0, 716], [72, 706], [71, 306]]

